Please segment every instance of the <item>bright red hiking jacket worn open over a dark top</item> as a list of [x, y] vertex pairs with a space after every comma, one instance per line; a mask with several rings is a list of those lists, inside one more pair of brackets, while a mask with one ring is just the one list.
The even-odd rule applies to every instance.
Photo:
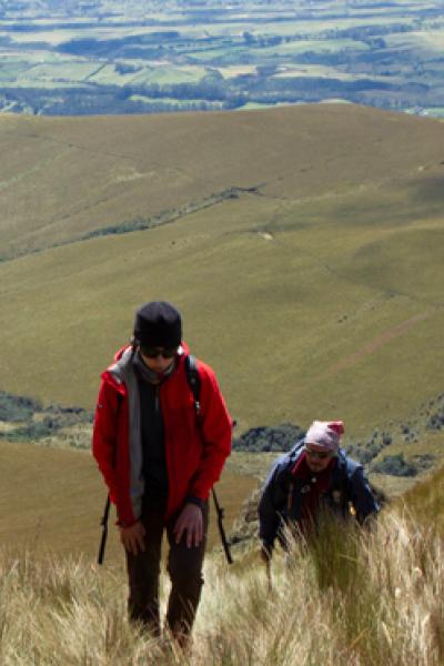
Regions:
[[[188, 496], [208, 498], [231, 452], [232, 421], [212, 369], [201, 361], [198, 426], [184, 350], [159, 390], [169, 477], [167, 518], [183, 506]], [[139, 410], [131, 347], [123, 347], [101, 376], [92, 452], [117, 506], [119, 524], [125, 526], [140, 518], [144, 492]]]

